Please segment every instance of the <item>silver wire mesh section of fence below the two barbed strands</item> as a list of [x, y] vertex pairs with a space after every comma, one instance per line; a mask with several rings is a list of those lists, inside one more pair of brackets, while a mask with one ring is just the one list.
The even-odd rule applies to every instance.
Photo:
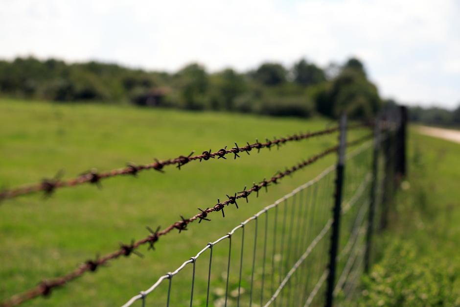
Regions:
[[[371, 215], [382, 223], [383, 204], [388, 202], [387, 193], [394, 186], [396, 128], [386, 130], [383, 136], [365, 143], [346, 158], [337, 277], [332, 293], [336, 299], [350, 300], [356, 294], [366, 253], [371, 251], [366, 249], [370, 244], [366, 240], [368, 228], [377, 230], [382, 226], [370, 225], [369, 210], [373, 201]], [[384, 159], [376, 161], [373, 169], [375, 146]], [[335, 165], [327, 168], [208, 243], [123, 306], [326, 304], [336, 169]]]

